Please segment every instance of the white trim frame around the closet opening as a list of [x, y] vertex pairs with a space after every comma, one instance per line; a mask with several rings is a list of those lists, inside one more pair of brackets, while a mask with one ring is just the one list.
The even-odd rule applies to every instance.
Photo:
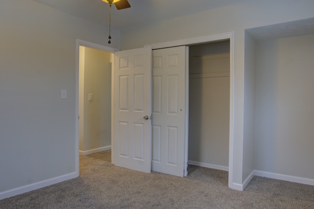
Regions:
[[[188, 46], [188, 45], [196, 45], [196, 44], [205, 44], [214, 41], [223, 41], [223, 40], [230, 40], [230, 115], [229, 115], [229, 175], [228, 175], [228, 186], [233, 188], [233, 171], [234, 171], [234, 109], [235, 109], [235, 32], [226, 32], [220, 34], [214, 34], [209, 36], [201, 36], [195, 38], [188, 38], [176, 41], [169, 41], [169, 42], [162, 42], [157, 44], [151, 45], [144, 45], [150, 46], [152, 49], [158, 48], [167, 48], [167, 47], [174, 47], [174, 46]], [[187, 78], [188, 79], [188, 78]], [[187, 86], [188, 88], [188, 86]], [[185, 87], [186, 89], [186, 87]], [[186, 91], [186, 90], [185, 90]], [[187, 89], [188, 91], [188, 89]], [[188, 104], [188, 101], [187, 101]], [[187, 117], [188, 118], [188, 117]], [[188, 127], [188, 124], [187, 124]], [[186, 129], [188, 131], [188, 128]], [[188, 149], [188, 134], [185, 135], [185, 159], [184, 161], [187, 162], [187, 149]]]

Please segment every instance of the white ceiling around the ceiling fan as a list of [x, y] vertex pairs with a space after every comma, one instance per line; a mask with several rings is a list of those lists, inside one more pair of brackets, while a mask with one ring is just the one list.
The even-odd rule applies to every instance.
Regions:
[[[109, 24], [109, 4], [102, 0], [33, 0], [88, 21]], [[248, 0], [128, 0], [131, 8], [112, 6], [111, 26], [118, 30], [161, 22]]]

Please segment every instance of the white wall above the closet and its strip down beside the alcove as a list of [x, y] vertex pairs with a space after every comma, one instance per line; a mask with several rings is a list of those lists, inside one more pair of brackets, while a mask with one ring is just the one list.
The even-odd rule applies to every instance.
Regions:
[[[242, 185], [245, 29], [313, 18], [313, 0], [251, 0], [121, 32], [121, 48], [235, 31], [235, 126], [233, 183]], [[210, 9], [210, 8], [209, 8]], [[174, 29], [175, 28], [175, 29]]]

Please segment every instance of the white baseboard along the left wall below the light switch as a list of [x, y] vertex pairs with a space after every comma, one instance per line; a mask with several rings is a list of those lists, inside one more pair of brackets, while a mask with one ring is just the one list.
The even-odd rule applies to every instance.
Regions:
[[0, 200], [8, 198], [8, 197], [13, 197], [15, 195], [23, 194], [25, 192], [32, 191], [32, 190], [42, 188], [45, 186], [57, 184], [57, 183], [60, 183], [60, 182], [66, 181], [66, 180], [70, 180], [70, 179], [78, 177], [78, 175], [79, 174], [77, 172], [73, 172], [73, 173], [62, 175], [62, 176], [54, 177], [51, 179], [47, 179], [47, 180], [44, 180], [41, 182], [36, 182], [36, 183], [30, 184], [30, 185], [20, 186], [17, 188], [2, 191], [2, 192], [0, 192]]

